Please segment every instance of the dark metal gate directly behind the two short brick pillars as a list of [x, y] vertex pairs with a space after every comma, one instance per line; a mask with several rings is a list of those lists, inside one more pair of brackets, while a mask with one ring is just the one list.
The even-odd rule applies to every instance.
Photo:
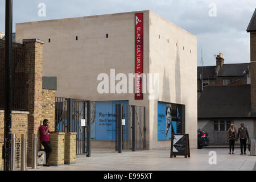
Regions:
[[88, 100], [55, 97], [55, 130], [77, 133], [76, 154], [88, 157], [90, 156], [90, 109]]

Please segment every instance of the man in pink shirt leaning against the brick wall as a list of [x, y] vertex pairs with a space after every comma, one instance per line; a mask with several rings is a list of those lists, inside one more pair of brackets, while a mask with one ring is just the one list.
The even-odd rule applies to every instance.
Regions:
[[46, 152], [46, 164], [44, 164], [43, 166], [48, 166], [48, 160], [49, 160], [49, 154], [52, 151], [52, 146], [51, 143], [49, 141], [49, 134], [48, 133], [57, 133], [59, 131], [49, 131], [49, 121], [48, 119], [44, 119], [43, 121], [43, 125], [40, 126], [40, 139], [41, 139], [41, 143], [44, 146], [44, 151]]

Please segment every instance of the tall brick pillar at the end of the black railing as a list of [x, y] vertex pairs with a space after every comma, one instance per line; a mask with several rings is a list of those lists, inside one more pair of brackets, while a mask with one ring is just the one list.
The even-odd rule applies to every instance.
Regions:
[[32, 166], [32, 134], [38, 134], [38, 151], [40, 148], [39, 126], [42, 122], [42, 77], [43, 77], [43, 44], [38, 39], [23, 40], [25, 48], [26, 78], [27, 78], [27, 109], [28, 138], [27, 165]]

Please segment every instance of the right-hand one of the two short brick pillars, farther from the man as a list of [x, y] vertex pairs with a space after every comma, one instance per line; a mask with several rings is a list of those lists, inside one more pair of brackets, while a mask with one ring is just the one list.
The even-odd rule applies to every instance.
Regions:
[[65, 164], [76, 163], [76, 135], [77, 133], [65, 134]]

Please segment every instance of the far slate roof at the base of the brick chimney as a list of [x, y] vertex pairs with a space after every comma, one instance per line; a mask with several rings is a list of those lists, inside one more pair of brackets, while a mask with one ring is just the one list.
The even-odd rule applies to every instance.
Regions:
[[[223, 64], [218, 71], [218, 76], [245, 76], [247, 64], [250, 63], [237, 63], [237, 64]], [[215, 71], [216, 66], [209, 67], [197, 67], [197, 79], [200, 79], [200, 73], [203, 69], [203, 79], [214, 79], [216, 78]]]

